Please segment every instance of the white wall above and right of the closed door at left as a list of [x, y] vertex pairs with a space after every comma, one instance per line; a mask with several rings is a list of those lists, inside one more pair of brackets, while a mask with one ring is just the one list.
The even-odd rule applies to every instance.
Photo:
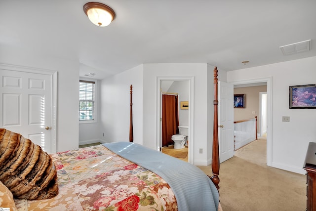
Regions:
[[0, 63], [57, 71], [57, 152], [78, 148], [79, 62], [1, 45]]

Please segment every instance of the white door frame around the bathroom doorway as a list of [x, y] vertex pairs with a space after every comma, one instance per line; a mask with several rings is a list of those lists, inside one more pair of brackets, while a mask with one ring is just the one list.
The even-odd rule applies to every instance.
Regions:
[[161, 81], [189, 81], [189, 152], [188, 163], [193, 164], [194, 153], [194, 77], [157, 77], [157, 109], [156, 109], [156, 149], [160, 151], [161, 147]]

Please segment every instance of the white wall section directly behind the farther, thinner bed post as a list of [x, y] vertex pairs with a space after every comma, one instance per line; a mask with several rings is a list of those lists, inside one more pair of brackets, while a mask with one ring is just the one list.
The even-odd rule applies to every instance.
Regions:
[[129, 141], [130, 85], [133, 86], [134, 143], [143, 144], [143, 65], [100, 83], [99, 131], [104, 143]]

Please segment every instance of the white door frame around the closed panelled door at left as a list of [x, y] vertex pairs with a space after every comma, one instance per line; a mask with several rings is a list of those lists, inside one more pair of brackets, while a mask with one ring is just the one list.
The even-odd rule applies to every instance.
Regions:
[[10, 65], [10, 64], [1, 64], [0, 69], [3, 70], [11, 70], [11, 71], [20, 71], [25, 73], [35, 73], [35, 74], [42, 74], [48, 75], [51, 78], [52, 84], [52, 114], [51, 114], [51, 153], [56, 153], [56, 134], [57, 134], [57, 127], [56, 127], [56, 117], [57, 117], [57, 71], [51, 70], [44, 70], [39, 68], [31, 68], [31, 67], [24, 67], [24, 66], [17, 66], [17, 65]]

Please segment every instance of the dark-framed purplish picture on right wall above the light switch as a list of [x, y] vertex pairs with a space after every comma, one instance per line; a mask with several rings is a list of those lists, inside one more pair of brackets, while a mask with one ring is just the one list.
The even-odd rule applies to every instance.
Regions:
[[316, 108], [316, 84], [292, 85], [290, 108]]

